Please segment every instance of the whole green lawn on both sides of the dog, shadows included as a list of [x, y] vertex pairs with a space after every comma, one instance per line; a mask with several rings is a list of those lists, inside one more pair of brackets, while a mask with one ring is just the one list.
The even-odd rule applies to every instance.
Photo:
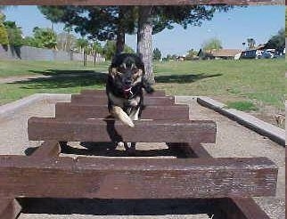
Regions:
[[[4, 77], [51, 76], [0, 84], [0, 104], [32, 93], [78, 93], [83, 88], [104, 88], [109, 62], [0, 61]], [[169, 61], [155, 62], [157, 89], [168, 94], [209, 95], [219, 101], [250, 101], [283, 110], [285, 61]]]

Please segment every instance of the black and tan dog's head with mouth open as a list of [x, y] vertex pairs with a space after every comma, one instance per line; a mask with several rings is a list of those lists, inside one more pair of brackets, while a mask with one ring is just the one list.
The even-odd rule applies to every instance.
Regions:
[[128, 91], [136, 85], [141, 85], [143, 75], [143, 61], [135, 54], [122, 53], [111, 62], [109, 76], [117, 89]]

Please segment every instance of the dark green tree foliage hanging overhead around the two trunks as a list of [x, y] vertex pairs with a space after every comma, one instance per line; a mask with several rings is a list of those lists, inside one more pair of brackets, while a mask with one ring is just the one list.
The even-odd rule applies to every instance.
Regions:
[[[152, 34], [179, 24], [201, 26], [203, 20], [211, 20], [216, 11], [226, 12], [233, 6], [227, 5], [160, 5], [152, 7]], [[134, 34], [140, 6], [38, 6], [45, 18], [75, 27], [83, 37], [100, 41], [113, 40], [119, 29]]]

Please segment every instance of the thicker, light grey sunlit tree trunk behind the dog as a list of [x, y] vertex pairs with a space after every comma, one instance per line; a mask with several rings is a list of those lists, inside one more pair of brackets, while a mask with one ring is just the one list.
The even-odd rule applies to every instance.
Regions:
[[152, 6], [139, 7], [136, 52], [143, 59], [147, 81], [154, 84], [152, 70]]

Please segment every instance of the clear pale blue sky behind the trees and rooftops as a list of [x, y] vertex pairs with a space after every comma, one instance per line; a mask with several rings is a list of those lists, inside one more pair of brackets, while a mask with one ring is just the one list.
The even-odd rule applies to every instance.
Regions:
[[[8, 7], [4, 13], [7, 20], [16, 21], [24, 36], [32, 35], [34, 27], [51, 27], [51, 22], [37, 10], [37, 6]], [[158, 47], [163, 56], [184, 54], [192, 48], [199, 50], [204, 41], [217, 37], [224, 48], [242, 49], [242, 42], [247, 38], [254, 38], [257, 45], [266, 43], [284, 25], [284, 5], [235, 7], [230, 12], [215, 13], [214, 18], [203, 21], [201, 27], [184, 29], [175, 26], [172, 30], [164, 30], [152, 37], [152, 46]], [[61, 24], [54, 26], [58, 33], [62, 28]], [[127, 45], [136, 48], [136, 36], [127, 36], [126, 41]]]

